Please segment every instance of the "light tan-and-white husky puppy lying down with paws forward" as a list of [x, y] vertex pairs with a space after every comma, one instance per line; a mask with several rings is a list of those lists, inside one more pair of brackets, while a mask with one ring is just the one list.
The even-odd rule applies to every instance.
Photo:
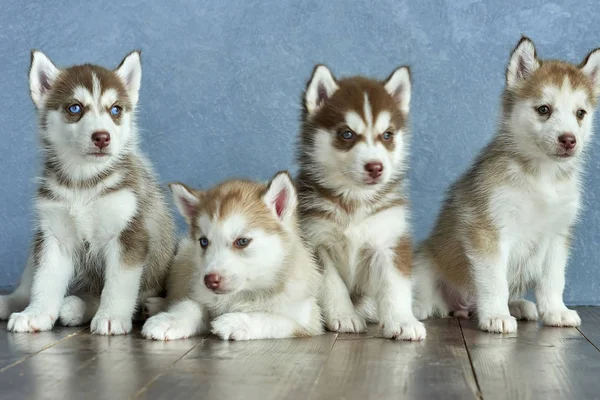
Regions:
[[[300, 237], [286, 172], [269, 184], [232, 180], [204, 192], [170, 186], [189, 234], [167, 282], [167, 309], [146, 321], [146, 338], [209, 330], [224, 340], [322, 333], [321, 277]], [[160, 299], [149, 299], [151, 314], [160, 308]]]

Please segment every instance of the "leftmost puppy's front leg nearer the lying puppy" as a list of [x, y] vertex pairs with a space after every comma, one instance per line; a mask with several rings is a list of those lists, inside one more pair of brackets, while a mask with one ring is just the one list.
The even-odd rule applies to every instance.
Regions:
[[131, 331], [145, 253], [115, 238], [106, 245], [104, 256], [104, 288], [90, 329], [98, 335], [124, 335]]

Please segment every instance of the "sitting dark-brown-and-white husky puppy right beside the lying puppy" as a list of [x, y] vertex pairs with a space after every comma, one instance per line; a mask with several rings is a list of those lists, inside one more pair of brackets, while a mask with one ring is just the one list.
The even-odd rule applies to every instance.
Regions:
[[304, 95], [298, 192], [303, 233], [323, 271], [327, 329], [425, 338], [412, 314], [406, 159], [408, 67], [384, 82], [336, 80], [318, 65]]

